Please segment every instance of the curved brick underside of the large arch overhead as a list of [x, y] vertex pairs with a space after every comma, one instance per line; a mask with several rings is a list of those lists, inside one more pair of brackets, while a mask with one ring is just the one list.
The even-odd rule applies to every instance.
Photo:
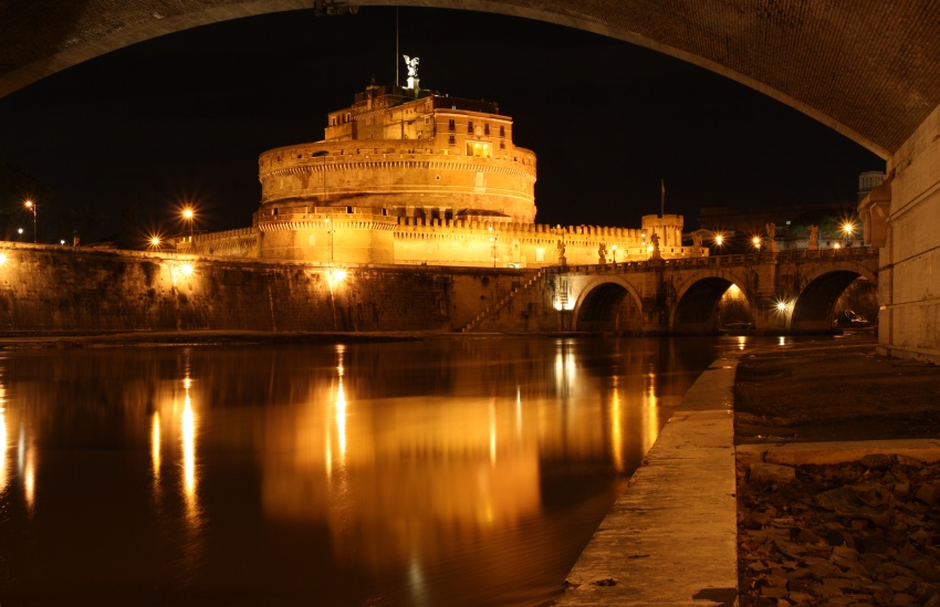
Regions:
[[[936, 0], [356, 0], [536, 19], [672, 55], [774, 97], [888, 157], [940, 105]], [[310, 0], [32, 0], [0, 6], [0, 96], [159, 35], [310, 10]]]

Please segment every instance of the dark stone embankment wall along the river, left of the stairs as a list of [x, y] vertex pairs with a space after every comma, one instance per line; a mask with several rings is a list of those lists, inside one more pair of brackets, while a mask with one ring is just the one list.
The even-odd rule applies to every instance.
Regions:
[[210, 259], [0, 243], [0, 332], [460, 331], [524, 270]]

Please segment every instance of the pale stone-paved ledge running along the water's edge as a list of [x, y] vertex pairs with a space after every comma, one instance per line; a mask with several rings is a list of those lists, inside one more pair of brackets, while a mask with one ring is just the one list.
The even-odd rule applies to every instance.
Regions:
[[735, 604], [735, 367], [716, 360], [692, 385], [556, 605]]

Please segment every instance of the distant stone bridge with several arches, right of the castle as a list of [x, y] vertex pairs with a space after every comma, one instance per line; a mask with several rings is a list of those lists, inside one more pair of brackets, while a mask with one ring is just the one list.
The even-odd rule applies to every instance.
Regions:
[[544, 293], [563, 331], [711, 333], [732, 286], [746, 299], [756, 333], [833, 327], [835, 304], [856, 279], [877, 284], [869, 248], [764, 252], [571, 266], [546, 273]]

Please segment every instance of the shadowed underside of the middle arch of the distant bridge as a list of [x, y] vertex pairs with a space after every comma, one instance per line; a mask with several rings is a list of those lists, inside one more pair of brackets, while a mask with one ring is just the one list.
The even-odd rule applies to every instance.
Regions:
[[712, 333], [719, 329], [718, 303], [722, 295], [737, 285], [754, 310], [754, 301], [748, 291], [743, 271], [723, 269], [719, 272], [697, 273], [679, 285], [677, 305], [669, 318], [670, 331], [677, 333]]

